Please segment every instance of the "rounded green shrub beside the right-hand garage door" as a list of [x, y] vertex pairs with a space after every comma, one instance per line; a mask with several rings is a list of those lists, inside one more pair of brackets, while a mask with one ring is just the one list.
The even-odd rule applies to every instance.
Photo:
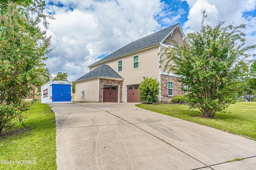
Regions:
[[143, 77], [139, 86], [140, 102], [152, 104], [159, 101], [159, 82], [156, 79]]

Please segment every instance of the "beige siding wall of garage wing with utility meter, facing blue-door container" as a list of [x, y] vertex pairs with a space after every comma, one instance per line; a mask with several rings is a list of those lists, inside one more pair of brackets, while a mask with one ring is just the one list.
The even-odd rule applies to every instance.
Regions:
[[[82, 90], [85, 92], [82, 99]], [[76, 102], [97, 102], [98, 101], [98, 78], [76, 82]]]

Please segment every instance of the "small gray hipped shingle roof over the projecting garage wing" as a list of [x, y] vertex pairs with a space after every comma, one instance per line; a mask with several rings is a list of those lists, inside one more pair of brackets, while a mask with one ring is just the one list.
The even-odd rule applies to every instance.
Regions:
[[113, 78], [122, 78], [115, 70], [113, 70], [109, 65], [102, 64], [98, 66], [94, 70], [88, 72], [84, 76], [78, 78], [78, 80], [84, 80], [87, 78], [97, 77], [97, 76], [104, 76], [104, 77], [113, 77]]

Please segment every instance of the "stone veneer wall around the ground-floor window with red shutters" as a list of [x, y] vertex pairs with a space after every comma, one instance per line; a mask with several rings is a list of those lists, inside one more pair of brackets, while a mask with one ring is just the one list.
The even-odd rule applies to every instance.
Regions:
[[161, 102], [170, 102], [172, 96], [166, 96], [166, 81], [176, 82], [176, 95], [182, 95], [182, 83], [178, 82], [178, 77], [161, 74]]

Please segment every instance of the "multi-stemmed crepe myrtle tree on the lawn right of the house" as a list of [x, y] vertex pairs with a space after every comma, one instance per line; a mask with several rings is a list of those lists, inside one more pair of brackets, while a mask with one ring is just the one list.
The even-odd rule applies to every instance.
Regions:
[[237, 63], [252, 56], [246, 51], [256, 45], [245, 45], [245, 34], [240, 29], [246, 25], [204, 25], [206, 17], [204, 11], [201, 30], [188, 33], [186, 43], [179, 46], [173, 41], [176, 48], [163, 49], [160, 63], [166, 62], [164, 70], [174, 70], [182, 76], [180, 82], [189, 85], [190, 108], [198, 108], [204, 117], [214, 117], [236, 102]]

